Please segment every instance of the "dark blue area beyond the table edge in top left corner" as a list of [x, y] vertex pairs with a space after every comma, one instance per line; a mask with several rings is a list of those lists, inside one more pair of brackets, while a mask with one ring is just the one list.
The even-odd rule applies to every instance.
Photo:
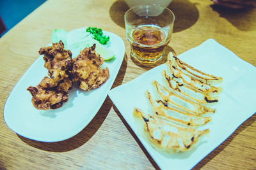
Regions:
[[46, 0], [0, 0], [0, 37]]

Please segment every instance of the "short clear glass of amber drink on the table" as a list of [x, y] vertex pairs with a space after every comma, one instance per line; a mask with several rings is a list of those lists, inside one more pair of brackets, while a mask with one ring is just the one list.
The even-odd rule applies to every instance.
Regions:
[[173, 21], [172, 11], [163, 6], [141, 5], [128, 10], [125, 29], [131, 56], [148, 64], [159, 61], [172, 37]]

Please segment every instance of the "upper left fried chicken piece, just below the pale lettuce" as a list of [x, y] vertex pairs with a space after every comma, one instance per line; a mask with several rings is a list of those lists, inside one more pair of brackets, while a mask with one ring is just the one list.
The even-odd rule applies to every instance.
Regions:
[[70, 77], [73, 60], [70, 50], [64, 49], [62, 41], [52, 43], [52, 46], [40, 48], [40, 55], [44, 55], [44, 67], [48, 69], [48, 75], [51, 77], [49, 83], [52, 87], [56, 86], [59, 81]]

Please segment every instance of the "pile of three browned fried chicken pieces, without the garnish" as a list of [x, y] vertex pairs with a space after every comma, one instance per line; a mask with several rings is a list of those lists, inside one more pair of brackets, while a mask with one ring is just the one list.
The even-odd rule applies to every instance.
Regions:
[[84, 48], [72, 59], [72, 52], [64, 49], [64, 44], [52, 43], [52, 46], [40, 48], [44, 55], [44, 67], [49, 77], [45, 76], [36, 87], [28, 87], [32, 103], [38, 110], [60, 108], [68, 101], [68, 90], [72, 82], [79, 84], [80, 89], [91, 90], [102, 85], [109, 78], [108, 67], [102, 69], [104, 59], [95, 51], [96, 45]]

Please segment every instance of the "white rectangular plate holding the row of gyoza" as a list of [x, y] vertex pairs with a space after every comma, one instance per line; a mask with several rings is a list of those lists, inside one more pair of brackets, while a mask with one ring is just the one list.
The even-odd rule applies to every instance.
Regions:
[[120, 111], [148, 153], [161, 169], [191, 169], [214, 148], [228, 138], [247, 118], [256, 111], [256, 68], [241, 60], [233, 52], [221, 46], [214, 39], [208, 39], [202, 45], [179, 55], [179, 58], [191, 66], [223, 77], [223, 92], [220, 102], [214, 107], [212, 122], [205, 125], [210, 133], [193, 150], [185, 153], [161, 154], [143, 139], [136, 128], [132, 112], [134, 107], [148, 112], [150, 106], [145, 91], [153, 89], [151, 82], [157, 80], [163, 84], [161, 72], [166, 65], [155, 67], [138, 78], [109, 91], [109, 97]]

